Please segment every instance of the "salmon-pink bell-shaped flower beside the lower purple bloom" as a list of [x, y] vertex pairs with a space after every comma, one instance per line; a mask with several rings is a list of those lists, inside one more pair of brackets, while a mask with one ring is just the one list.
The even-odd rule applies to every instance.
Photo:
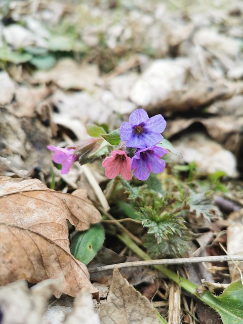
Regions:
[[121, 150], [114, 150], [111, 152], [111, 155], [106, 157], [102, 163], [102, 167], [106, 168], [106, 177], [113, 179], [120, 174], [125, 180], [131, 180], [131, 158], [128, 157], [126, 152]]

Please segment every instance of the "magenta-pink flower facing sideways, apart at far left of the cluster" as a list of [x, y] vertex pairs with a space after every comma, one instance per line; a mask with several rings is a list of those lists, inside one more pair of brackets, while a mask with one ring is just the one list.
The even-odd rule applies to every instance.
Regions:
[[61, 148], [59, 146], [49, 145], [47, 148], [54, 151], [52, 159], [55, 163], [62, 165], [61, 174], [66, 174], [70, 171], [70, 167], [77, 158], [77, 155], [73, 155], [74, 148]]

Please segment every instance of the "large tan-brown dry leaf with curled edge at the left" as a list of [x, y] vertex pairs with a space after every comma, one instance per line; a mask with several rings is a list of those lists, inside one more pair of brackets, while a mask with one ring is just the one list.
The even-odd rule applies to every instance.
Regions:
[[67, 220], [85, 230], [101, 218], [88, 198], [56, 192], [37, 179], [1, 177], [0, 206], [1, 285], [63, 273], [65, 294], [75, 296], [83, 287], [97, 292], [86, 266], [71, 255], [68, 240]]

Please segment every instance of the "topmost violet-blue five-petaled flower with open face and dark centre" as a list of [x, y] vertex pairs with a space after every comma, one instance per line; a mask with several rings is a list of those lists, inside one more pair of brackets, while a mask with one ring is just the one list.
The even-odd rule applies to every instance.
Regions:
[[151, 147], [163, 139], [160, 133], [165, 128], [166, 121], [162, 115], [149, 118], [144, 109], [136, 109], [131, 113], [129, 123], [124, 121], [121, 124], [120, 139], [127, 141], [128, 147]]

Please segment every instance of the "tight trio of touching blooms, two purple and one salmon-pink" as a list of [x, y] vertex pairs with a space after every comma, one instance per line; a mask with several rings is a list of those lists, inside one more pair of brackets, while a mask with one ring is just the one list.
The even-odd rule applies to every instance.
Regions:
[[149, 118], [143, 109], [132, 112], [129, 123], [124, 121], [120, 126], [120, 139], [126, 142], [126, 147], [136, 148], [136, 152], [130, 157], [125, 152], [126, 147], [112, 151], [112, 157], [106, 157], [102, 163], [107, 178], [112, 179], [120, 173], [125, 180], [130, 180], [133, 171], [136, 178], [146, 180], [150, 172], [163, 172], [166, 165], [160, 157], [168, 150], [156, 144], [163, 139], [160, 133], [165, 128], [166, 121], [161, 115]]

